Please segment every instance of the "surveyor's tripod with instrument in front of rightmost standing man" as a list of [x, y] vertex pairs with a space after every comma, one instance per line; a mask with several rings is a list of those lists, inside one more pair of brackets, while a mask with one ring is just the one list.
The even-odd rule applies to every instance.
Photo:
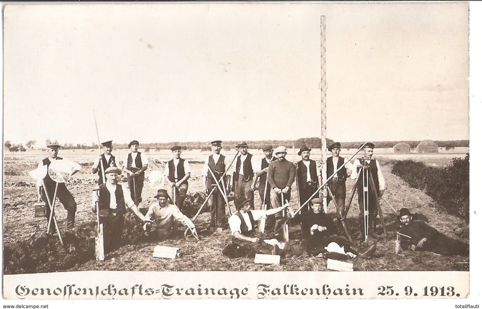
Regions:
[[[371, 218], [374, 222], [369, 222], [369, 205], [370, 203], [375, 204], [376, 210], [378, 210], [378, 215], [380, 215], [380, 221], [382, 222], [382, 227], [383, 227], [383, 236], [387, 236], [387, 227], [385, 225], [385, 218], [383, 217], [383, 212], [380, 207], [380, 202], [378, 202], [378, 192], [375, 187], [375, 181], [373, 180], [373, 174], [372, 171], [370, 170], [370, 162], [375, 159], [371, 158], [361, 158], [359, 159], [361, 162], [361, 165], [358, 167], [358, 175], [357, 179], [355, 181], [355, 184], [351, 190], [351, 195], [350, 195], [350, 200], [348, 202], [347, 209], [345, 211], [345, 214], [343, 214], [344, 219], [346, 219], [348, 210], [351, 206], [351, 202], [353, 201], [353, 196], [355, 195], [355, 189], [359, 188], [361, 185], [362, 190], [358, 189], [358, 194], [359, 194], [359, 201], [360, 199], [360, 194], [363, 194], [363, 205], [360, 205], [360, 208], [362, 209], [362, 215], [363, 215], [363, 233], [364, 233], [364, 239], [365, 242], [368, 241], [368, 236], [370, 232], [373, 232], [374, 235], [376, 235], [375, 227], [376, 227], [376, 215]], [[360, 184], [361, 182], [361, 184]], [[373, 200], [373, 201], [372, 201]], [[372, 211], [376, 211], [373, 210]], [[361, 223], [361, 222], [360, 222]], [[371, 225], [371, 227], [370, 227]], [[369, 231], [369, 228], [373, 228], [373, 231]]]

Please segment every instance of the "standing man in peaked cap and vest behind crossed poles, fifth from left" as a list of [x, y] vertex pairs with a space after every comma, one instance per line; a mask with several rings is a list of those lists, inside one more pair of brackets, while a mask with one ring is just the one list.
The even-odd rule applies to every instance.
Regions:
[[227, 192], [225, 192], [225, 194], [228, 194], [231, 189], [231, 176], [229, 175], [229, 171], [226, 171], [226, 168], [228, 167], [226, 157], [220, 153], [222, 149], [221, 143], [221, 141], [211, 142], [213, 154], [210, 155], [204, 163], [201, 174], [202, 183], [204, 184], [204, 188], [206, 188], [206, 192], [208, 194], [211, 193], [214, 188], [216, 188], [216, 191], [208, 200], [211, 210], [212, 231], [222, 231], [224, 225], [226, 224], [226, 203], [220, 189], [216, 187], [216, 181], [214, 180], [213, 174], [221, 186], [221, 189], [224, 190], [224, 188], [222, 188], [223, 183], [227, 186]]

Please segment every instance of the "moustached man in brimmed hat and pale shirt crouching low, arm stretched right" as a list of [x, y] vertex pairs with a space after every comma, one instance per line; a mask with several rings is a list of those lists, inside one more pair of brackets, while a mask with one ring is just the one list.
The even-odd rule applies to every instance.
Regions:
[[144, 225], [143, 233], [135, 237], [131, 244], [139, 242], [142, 238], [165, 240], [172, 236], [178, 223], [190, 228], [193, 233], [196, 232], [192, 221], [174, 205], [167, 190], [159, 189], [154, 198], [157, 199], [157, 202], [151, 204], [147, 210], [146, 219], [149, 222]]

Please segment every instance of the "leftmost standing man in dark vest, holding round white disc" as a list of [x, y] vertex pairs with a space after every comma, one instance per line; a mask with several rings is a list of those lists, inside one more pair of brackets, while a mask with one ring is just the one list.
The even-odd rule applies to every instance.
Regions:
[[[47, 145], [47, 152], [49, 156], [39, 162], [39, 169], [43, 165], [46, 165], [48, 169], [51, 162], [55, 160], [63, 160], [62, 158], [57, 156], [59, 148], [60, 146], [57, 144], [50, 143]], [[82, 169], [80, 164], [72, 162], [70, 160], [68, 161], [69, 163], [70, 162], [72, 163], [71, 164], [72, 172], [70, 175], [74, 175], [75, 173], [79, 172]], [[39, 201], [42, 200], [45, 202], [46, 217], [47, 217], [47, 220], [49, 220], [50, 207], [49, 207], [49, 203], [47, 202], [47, 196], [45, 195], [45, 190], [47, 190], [50, 203], [53, 204], [56, 182], [52, 178], [50, 178], [49, 173], [47, 173], [47, 175], [45, 175], [45, 177], [43, 178], [43, 183], [45, 184], [45, 188], [43, 188], [42, 186], [42, 180], [37, 182], [37, 188], [38, 188], [37, 194], [39, 197]], [[75, 202], [72, 194], [67, 190], [65, 183], [63, 182], [58, 183], [56, 197], [62, 203], [62, 205], [64, 205], [65, 210], [67, 210], [67, 228], [74, 228], [75, 212], [77, 211], [77, 203]], [[52, 220], [50, 223], [50, 231], [52, 233], [55, 232], [54, 220]]]

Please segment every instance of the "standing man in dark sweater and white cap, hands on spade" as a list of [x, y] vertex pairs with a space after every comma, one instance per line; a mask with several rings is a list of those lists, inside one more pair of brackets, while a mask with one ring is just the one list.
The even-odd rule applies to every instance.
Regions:
[[[282, 204], [291, 199], [291, 186], [295, 182], [295, 164], [286, 160], [287, 150], [284, 146], [279, 146], [274, 150], [278, 160], [271, 161], [268, 166], [268, 183], [271, 186], [269, 198], [273, 208], [280, 208]], [[281, 193], [285, 201], [281, 202]], [[278, 230], [282, 223], [282, 213], [276, 213], [274, 230]]]

